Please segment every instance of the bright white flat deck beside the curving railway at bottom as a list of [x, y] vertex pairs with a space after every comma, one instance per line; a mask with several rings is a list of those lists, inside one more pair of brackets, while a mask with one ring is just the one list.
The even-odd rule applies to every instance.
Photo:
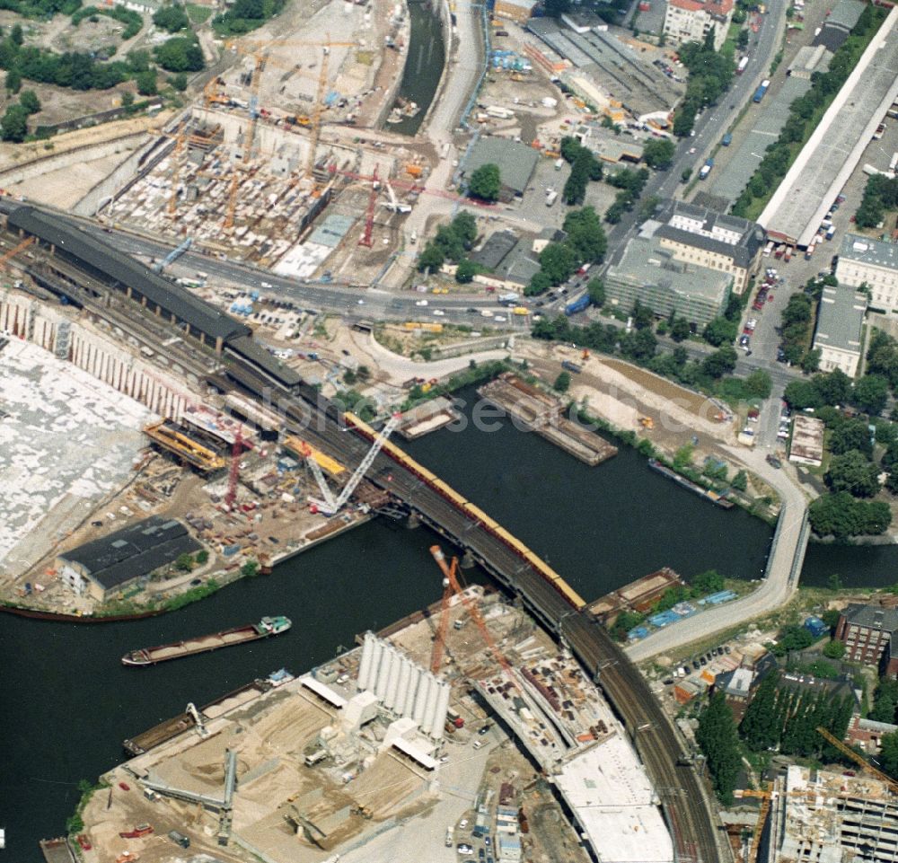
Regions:
[[600, 860], [670, 863], [674, 845], [645, 768], [627, 741], [614, 735], [555, 777], [556, 787]]

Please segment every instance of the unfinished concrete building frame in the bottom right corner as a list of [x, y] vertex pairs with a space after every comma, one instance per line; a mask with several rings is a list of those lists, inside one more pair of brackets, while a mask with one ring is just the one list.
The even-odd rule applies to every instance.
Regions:
[[894, 863], [898, 859], [898, 797], [865, 775], [790, 766], [774, 781], [769, 863]]

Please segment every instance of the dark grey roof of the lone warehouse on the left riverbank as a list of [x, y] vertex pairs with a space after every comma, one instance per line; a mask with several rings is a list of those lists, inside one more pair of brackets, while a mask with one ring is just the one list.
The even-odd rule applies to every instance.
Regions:
[[93, 581], [109, 590], [201, 548], [179, 521], [152, 515], [59, 557], [80, 564]]

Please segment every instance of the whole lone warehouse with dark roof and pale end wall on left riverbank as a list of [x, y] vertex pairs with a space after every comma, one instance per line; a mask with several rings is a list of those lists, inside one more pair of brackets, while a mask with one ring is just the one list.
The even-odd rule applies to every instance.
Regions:
[[152, 515], [57, 557], [56, 569], [75, 593], [101, 602], [111, 594], [202, 548], [175, 519]]

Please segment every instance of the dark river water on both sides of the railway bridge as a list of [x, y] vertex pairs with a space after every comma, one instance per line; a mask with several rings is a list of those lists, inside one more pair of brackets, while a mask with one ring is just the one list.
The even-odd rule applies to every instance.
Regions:
[[[408, 448], [548, 559], [587, 601], [662, 566], [684, 576], [717, 568], [758, 577], [770, 548], [766, 524], [712, 506], [649, 471], [626, 448], [589, 468], [506, 423], [489, 433], [472, 425], [436, 432]], [[436, 602], [441, 577], [427, 550], [433, 542], [426, 529], [380, 519], [270, 576], [160, 618], [70, 625], [0, 614], [0, 826], [7, 858], [40, 860], [37, 841], [63, 831], [78, 780], [120, 762], [124, 738], [180, 713], [188, 701], [204, 704], [282, 666], [302, 673], [340, 645], [350, 647], [357, 633]], [[898, 581], [896, 560], [894, 547], [812, 546], [806, 578], [822, 584], [838, 572], [845, 584], [891, 584]], [[465, 576], [484, 578], [479, 570]], [[265, 614], [286, 614], [293, 629], [151, 668], [120, 664], [136, 647]]]

